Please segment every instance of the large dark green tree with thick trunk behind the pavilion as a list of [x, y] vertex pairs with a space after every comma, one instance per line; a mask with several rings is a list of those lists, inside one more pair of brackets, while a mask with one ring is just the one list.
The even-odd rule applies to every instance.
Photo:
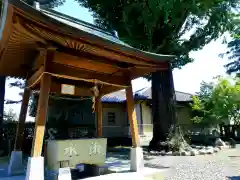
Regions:
[[[152, 73], [153, 139], [165, 141], [176, 124], [172, 68], [192, 62], [190, 51], [203, 48], [232, 30], [239, 0], [76, 0], [90, 9], [95, 23], [116, 30], [119, 38], [135, 48], [176, 55], [169, 71]], [[189, 36], [188, 38], [186, 38]]]

